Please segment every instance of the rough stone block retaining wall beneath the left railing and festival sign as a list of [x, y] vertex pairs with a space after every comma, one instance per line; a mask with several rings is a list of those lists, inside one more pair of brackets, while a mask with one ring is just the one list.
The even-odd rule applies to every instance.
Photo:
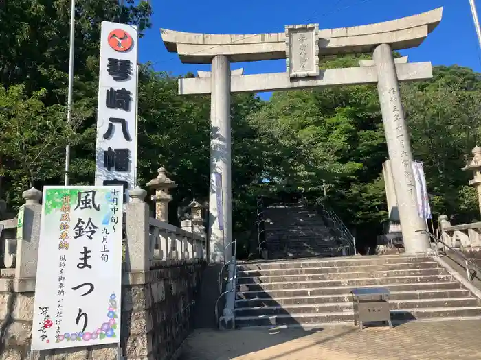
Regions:
[[[149, 283], [124, 285], [121, 346], [125, 359], [172, 359], [192, 331], [205, 264], [203, 259], [164, 261], [150, 271]], [[33, 291], [0, 291], [0, 360], [117, 359], [117, 346], [30, 352], [33, 307]]]

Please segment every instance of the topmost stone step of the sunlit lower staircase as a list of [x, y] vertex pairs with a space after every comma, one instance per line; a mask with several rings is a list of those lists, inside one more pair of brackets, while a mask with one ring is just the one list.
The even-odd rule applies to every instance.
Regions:
[[305, 267], [343, 267], [343, 266], [366, 266], [366, 265], [383, 265], [383, 264], [399, 264], [399, 263], [436, 263], [436, 261], [427, 257], [416, 256], [344, 256], [336, 259], [298, 259], [289, 261], [239, 261], [240, 269], [297, 269]]

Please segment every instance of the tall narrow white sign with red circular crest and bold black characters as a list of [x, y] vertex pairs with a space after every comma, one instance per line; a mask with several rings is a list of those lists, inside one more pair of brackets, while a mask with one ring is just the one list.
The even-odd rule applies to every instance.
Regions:
[[137, 168], [137, 27], [102, 21], [97, 110], [96, 186], [122, 185]]

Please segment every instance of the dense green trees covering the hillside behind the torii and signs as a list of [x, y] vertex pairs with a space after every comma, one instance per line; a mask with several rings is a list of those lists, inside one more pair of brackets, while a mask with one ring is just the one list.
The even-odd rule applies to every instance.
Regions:
[[[93, 181], [98, 51], [102, 20], [150, 27], [150, 5], [78, 0], [74, 116], [67, 124], [69, 1], [9, 0], [0, 6], [0, 197], [10, 208], [32, 185], [62, 184], [64, 147], [73, 145], [72, 184]], [[357, 66], [359, 58], [324, 58], [322, 68]], [[479, 217], [463, 173], [481, 134], [481, 80], [462, 67], [436, 67], [434, 79], [403, 84], [417, 160], [434, 215]], [[139, 79], [139, 184], [161, 165], [179, 187], [177, 206], [208, 193], [210, 99], [177, 95], [177, 79], [142, 67]], [[256, 197], [300, 192], [333, 206], [358, 243], [381, 233], [387, 216], [381, 165], [388, 158], [375, 86], [349, 86], [232, 97], [235, 231], [248, 238]], [[267, 182], [265, 179], [269, 180]]]

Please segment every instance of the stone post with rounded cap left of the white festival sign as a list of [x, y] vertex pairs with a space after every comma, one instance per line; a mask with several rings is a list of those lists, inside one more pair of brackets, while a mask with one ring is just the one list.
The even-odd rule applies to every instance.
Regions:
[[[15, 278], [29, 279], [34, 283], [40, 241], [42, 192], [32, 187], [24, 191], [22, 197], [25, 204], [19, 211], [19, 216], [23, 216], [23, 226], [17, 230]], [[21, 286], [20, 282], [19, 287]]]

